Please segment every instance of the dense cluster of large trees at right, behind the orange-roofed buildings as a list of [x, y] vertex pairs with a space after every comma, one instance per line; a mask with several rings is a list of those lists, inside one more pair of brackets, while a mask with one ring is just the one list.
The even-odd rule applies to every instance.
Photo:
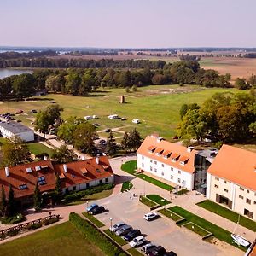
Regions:
[[198, 142], [210, 136], [214, 141], [239, 142], [256, 133], [256, 94], [218, 93], [204, 102], [183, 105], [179, 135]]

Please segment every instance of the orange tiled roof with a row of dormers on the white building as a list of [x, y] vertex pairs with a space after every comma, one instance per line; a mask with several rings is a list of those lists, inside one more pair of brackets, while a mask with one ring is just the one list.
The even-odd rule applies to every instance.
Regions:
[[[163, 154], [157, 155], [154, 153], [151, 153], [148, 151], [148, 148], [162, 148], [164, 150]], [[158, 137], [155, 136], [148, 136], [143, 141], [140, 148], [137, 150], [137, 154], [142, 154], [144, 156], [147, 156], [150, 159], [153, 160], [159, 160], [162, 163], [166, 163], [167, 165], [176, 167], [177, 169], [183, 170], [185, 172], [193, 173], [195, 172], [195, 153], [197, 151], [192, 150], [191, 152], [188, 152], [186, 147], [183, 147], [181, 145], [178, 145], [176, 143], [170, 143], [165, 140], [159, 140]], [[171, 157], [168, 157], [166, 159], [167, 155], [171, 155]], [[180, 164], [180, 161], [177, 160], [176, 162], [172, 162], [172, 157], [174, 155], [174, 158], [177, 158], [177, 156], [180, 156], [181, 158], [186, 158], [188, 161], [185, 163], [184, 166]]]

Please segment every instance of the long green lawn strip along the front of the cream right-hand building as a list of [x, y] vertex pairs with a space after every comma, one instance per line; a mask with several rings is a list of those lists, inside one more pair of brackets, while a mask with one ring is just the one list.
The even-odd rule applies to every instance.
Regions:
[[[230, 209], [227, 209], [225, 207], [222, 207], [213, 201], [205, 200], [205, 201], [201, 201], [197, 205], [199, 207], [203, 207], [207, 209], [210, 212], [214, 212], [224, 218], [228, 218], [235, 223], [237, 223], [238, 221], [238, 218], [239, 218], [238, 213], [233, 212]], [[254, 232], [256, 232], [256, 222], [253, 221], [252, 219], [240, 216], [239, 224], [241, 226], [244, 226], [248, 230], [253, 230]]]

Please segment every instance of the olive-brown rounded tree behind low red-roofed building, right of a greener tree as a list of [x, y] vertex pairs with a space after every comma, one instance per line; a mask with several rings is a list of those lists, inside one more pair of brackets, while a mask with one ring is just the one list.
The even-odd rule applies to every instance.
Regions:
[[73, 146], [84, 153], [94, 154], [93, 139], [95, 136], [96, 128], [93, 125], [90, 125], [90, 123], [79, 124], [73, 132]]

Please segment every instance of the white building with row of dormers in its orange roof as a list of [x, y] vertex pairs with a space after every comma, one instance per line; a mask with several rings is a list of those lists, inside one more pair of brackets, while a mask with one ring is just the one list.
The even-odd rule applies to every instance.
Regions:
[[[137, 150], [137, 169], [170, 182], [173, 186], [193, 190], [196, 182], [206, 183], [205, 177], [195, 180], [196, 154], [193, 148], [170, 143], [151, 135], [145, 138]], [[205, 171], [205, 170], [204, 170]]]

